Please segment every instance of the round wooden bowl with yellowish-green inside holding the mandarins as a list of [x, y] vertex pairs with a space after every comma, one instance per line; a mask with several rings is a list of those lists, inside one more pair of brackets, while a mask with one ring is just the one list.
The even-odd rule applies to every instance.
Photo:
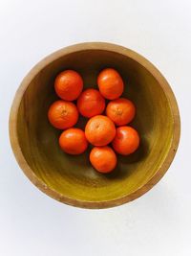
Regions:
[[[89, 163], [89, 151], [72, 156], [59, 149], [60, 130], [50, 125], [47, 111], [57, 99], [53, 81], [60, 71], [78, 71], [87, 88], [96, 87], [105, 67], [118, 70], [124, 97], [137, 106], [132, 126], [141, 144], [132, 155], [118, 156], [112, 174], [100, 175]], [[10, 138], [20, 167], [41, 191], [74, 206], [107, 208], [140, 197], [165, 174], [178, 148], [180, 115], [168, 82], [147, 59], [114, 44], [82, 43], [44, 58], [22, 81], [11, 106]]]

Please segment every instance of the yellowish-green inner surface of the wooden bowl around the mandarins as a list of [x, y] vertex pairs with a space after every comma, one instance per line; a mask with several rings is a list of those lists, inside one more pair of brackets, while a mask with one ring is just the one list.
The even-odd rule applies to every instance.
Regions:
[[[71, 156], [58, 147], [60, 130], [47, 118], [57, 99], [53, 90], [56, 75], [65, 69], [79, 72], [85, 88], [96, 88], [96, 77], [105, 67], [116, 68], [125, 82], [123, 96], [137, 106], [131, 124], [138, 129], [138, 151], [118, 156], [116, 170], [99, 175], [89, 163], [89, 151]], [[80, 118], [77, 127], [87, 120]], [[171, 146], [173, 116], [159, 82], [136, 60], [105, 50], [83, 50], [64, 55], [44, 67], [31, 81], [18, 110], [17, 134], [20, 149], [32, 169], [46, 185], [64, 197], [83, 201], [105, 201], [135, 192], [155, 175]]]

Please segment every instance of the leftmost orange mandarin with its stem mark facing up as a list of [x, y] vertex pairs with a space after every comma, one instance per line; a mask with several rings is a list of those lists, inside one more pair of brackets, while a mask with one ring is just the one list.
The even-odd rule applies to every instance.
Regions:
[[78, 120], [78, 111], [73, 103], [56, 101], [50, 106], [48, 118], [54, 128], [72, 128]]

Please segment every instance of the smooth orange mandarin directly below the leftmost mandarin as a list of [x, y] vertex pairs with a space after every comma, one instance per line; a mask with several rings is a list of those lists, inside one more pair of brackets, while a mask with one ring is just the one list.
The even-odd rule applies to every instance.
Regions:
[[60, 135], [59, 146], [67, 153], [80, 154], [88, 148], [88, 141], [82, 129], [68, 128]]

